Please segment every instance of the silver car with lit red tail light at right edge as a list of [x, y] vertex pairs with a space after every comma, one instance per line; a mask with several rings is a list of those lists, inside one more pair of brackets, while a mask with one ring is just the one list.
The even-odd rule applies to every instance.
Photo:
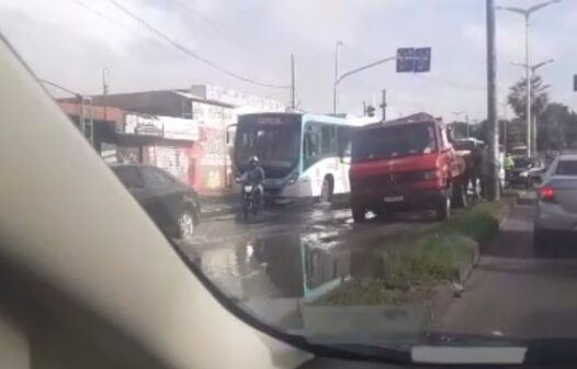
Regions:
[[558, 155], [538, 188], [534, 245], [558, 233], [577, 235], [577, 154]]

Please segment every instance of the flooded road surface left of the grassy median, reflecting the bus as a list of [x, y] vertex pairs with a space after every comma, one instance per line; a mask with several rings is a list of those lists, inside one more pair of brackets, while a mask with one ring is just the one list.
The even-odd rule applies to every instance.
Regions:
[[303, 300], [354, 273], [381, 238], [431, 224], [422, 214], [405, 214], [359, 225], [346, 206], [305, 202], [264, 210], [250, 223], [235, 213], [211, 216], [185, 247], [225, 293], [280, 324]]

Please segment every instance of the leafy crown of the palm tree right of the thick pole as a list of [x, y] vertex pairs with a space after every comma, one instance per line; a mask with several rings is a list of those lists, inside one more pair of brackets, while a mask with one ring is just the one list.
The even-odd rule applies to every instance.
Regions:
[[[540, 76], [531, 78], [531, 114], [533, 116], [540, 116], [545, 111], [548, 104], [548, 88], [550, 86], [544, 85]], [[525, 118], [527, 82], [524, 78], [511, 87], [507, 102], [517, 116]]]

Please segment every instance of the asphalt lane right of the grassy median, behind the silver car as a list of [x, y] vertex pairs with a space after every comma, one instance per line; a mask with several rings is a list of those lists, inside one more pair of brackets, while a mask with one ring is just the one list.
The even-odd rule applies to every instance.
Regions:
[[577, 335], [577, 242], [551, 239], [554, 254], [543, 257], [532, 232], [532, 205], [516, 206], [439, 331], [516, 338]]

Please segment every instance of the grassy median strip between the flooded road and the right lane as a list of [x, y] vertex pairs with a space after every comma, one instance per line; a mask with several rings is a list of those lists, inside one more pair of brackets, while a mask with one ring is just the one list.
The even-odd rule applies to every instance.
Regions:
[[498, 231], [508, 202], [479, 203], [417, 233], [383, 241], [365, 255], [363, 272], [316, 303], [324, 305], [411, 304], [432, 287], [456, 280], [475, 249]]

